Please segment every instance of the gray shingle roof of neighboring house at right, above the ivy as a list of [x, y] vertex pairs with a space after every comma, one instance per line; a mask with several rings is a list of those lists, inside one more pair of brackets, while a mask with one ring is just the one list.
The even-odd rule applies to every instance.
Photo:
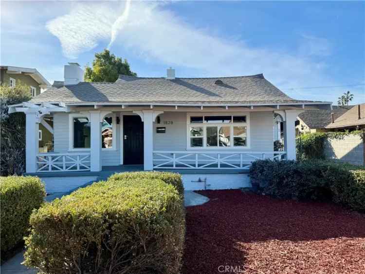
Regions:
[[332, 106], [333, 110], [306, 110], [298, 115], [298, 117], [311, 128], [325, 128], [332, 122], [331, 113], [333, 113], [334, 119], [337, 119], [345, 112], [347, 112], [352, 106]]

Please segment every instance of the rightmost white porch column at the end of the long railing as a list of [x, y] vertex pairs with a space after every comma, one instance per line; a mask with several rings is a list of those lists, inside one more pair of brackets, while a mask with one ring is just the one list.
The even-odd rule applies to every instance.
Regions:
[[295, 145], [295, 120], [302, 111], [286, 110], [284, 122], [284, 149], [287, 152], [287, 160], [296, 160]]

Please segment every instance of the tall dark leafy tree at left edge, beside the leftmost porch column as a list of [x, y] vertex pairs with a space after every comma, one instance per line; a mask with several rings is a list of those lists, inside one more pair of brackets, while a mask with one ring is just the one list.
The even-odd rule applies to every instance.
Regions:
[[0, 174], [21, 175], [25, 172], [25, 115], [8, 112], [8, 105], [31, 99], [30, 86], [17, 81], [15, 87], [0, 85]]

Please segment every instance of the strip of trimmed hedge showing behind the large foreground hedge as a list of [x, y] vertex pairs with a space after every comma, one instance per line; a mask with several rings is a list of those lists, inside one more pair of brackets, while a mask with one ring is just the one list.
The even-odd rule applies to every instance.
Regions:
[[134, 180], [134, 179], [160, 179], [166, 184], [173, 185], [180, 195], [184, 195], [183, 180], [180, 174], [172, 172], [142, 171], [116, 173], [108, 178], [108, 181], [115, 180]]

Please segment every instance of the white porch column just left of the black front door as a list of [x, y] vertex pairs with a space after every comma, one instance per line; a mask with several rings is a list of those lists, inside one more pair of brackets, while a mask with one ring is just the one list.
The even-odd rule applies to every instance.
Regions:
[[90, 170], [101, 171], [101, 122], [100, 111], [90, 111]]

